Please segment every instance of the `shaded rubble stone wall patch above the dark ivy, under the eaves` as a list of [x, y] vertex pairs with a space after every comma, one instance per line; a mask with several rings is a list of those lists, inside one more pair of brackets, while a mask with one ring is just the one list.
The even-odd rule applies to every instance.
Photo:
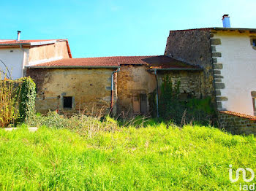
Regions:
[[[158, 85], [161, 90], [162, 82], [165, 76], [169, 76], [173, 82], [173, 86], [180, 82], [180, 98], [186, 100], [187, 98], [200, 98], [201, 93], [201, 71], [158, 71]], [[159, 92], [161, 94], [161, 92]]]

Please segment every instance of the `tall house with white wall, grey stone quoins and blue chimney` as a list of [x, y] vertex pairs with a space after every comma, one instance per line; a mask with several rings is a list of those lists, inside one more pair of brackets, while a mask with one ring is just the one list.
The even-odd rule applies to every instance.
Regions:
[[170, 31], [165, 55], [203, 67], [203, 95], [216, 101], [225, 128], [256, 133], [256, 29], [230, 28], [228, 15], [222, 20], [223, 28]]

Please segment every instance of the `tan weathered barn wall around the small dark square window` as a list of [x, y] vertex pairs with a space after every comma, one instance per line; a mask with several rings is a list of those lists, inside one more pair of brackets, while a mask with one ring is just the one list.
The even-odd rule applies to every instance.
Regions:
[[[114, 69], [28, 69], [37, 85], [37, 112], [102, 114], [110, 109], [111, 74]], [[64, 109], [63, 97], [72, 96], [72, 109]], [[115, 106], [115, 104], [114, 104]]]

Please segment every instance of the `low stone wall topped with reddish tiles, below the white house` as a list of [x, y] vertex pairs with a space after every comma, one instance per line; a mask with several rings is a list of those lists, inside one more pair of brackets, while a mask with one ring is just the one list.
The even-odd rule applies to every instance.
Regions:
[[222, 111], [218, 113], [219, 127], [233, 134], [255, 134], [256, 117], [236, 112]]

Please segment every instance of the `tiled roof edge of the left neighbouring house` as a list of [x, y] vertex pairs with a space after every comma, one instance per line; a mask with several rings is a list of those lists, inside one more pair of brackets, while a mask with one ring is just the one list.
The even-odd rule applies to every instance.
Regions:
[[72, 58], [69, 42], [67, 39], [37, 39], [37, 40], [10, 40], [10, 39], [0, 39], [0, 47], [32, 47], [32, 46], [42, 46], [45, 44], [54, 44], [56, 42], [66, 42], [69, 58]]

